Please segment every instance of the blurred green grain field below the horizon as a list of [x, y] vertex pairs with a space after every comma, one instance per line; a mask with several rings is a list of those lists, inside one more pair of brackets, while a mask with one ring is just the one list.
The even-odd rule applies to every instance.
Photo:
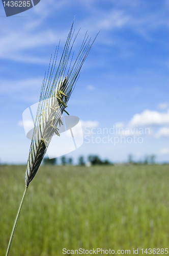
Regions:
[[[24, 191], [24, 173], [25, 166], [0, 166], [1, 256]], [[27, 189], [9, 255], [168, 248], [168, 178], [168, 165], [42, 166]]]

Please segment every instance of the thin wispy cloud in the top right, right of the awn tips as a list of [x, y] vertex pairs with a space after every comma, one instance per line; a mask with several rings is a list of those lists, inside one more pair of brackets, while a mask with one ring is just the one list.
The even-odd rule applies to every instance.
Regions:
[[[132, 4], [129, 3], [129, 6], [131, 5], [132, 8], [126, 8], [127, 2], [128, 1], [113, 1], [113, 8], [110, 8], [108, 11], [104, 9], [101, 10], [101, 8], [97, 9], [94, 5], [90, 6], [93, 15], [87, 20], [84, 20], [81, 27], [88, 27], [93, 31], [101, 29], [102, 33], [105, 31], [112, 33], [112, 30], [120, 30], [127, 27], [147, 41], [154, 40], [151, 34], [152, 31], [154, 32], [160, 27], [167, 28], [167, 16], [163, 15], [161, 10], [159, 10], [159, 12], [145, 11], [145, 6], [142, 1], [137, 1], [136, 5], [135, 1], [134, 3], [131, 1]], [[92, 26], [90, 26], [90, 24], [92, 24]], [[104, 34], [102, 39], [104, 40], [102, 40], [102, 44], [104, 44], [107, 41], [107, 34]], [[116, 39], [117, 37], [114, 35], [114, 40]], [[101, 40], [101, 38], [98, 40]]]

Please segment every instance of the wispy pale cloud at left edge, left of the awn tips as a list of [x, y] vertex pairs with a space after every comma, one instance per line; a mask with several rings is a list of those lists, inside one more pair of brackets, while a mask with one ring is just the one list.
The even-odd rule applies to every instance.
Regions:
[[37, 32], [36, 34], [33, 31], [24, 31], [23, 28], [17, 32], [9, 31], [4, 36], [1, 36], [0, 57], [22, 62], [48, 62], [49, 59], [45, 60], [44, 56], [40, 60], [40, 57], [38, 58], [33, 54], [32, 56], [26, 53], [23, 54], [23, 51], [40, 46], [57, 45], [59, 39], [54, 31], [51, 30]]

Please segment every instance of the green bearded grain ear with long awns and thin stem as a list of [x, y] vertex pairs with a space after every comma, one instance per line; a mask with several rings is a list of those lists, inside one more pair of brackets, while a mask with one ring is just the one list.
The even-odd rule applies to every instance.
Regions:
[[[65, 108], [67, 108], [67, 102], [79, 77], [80, 69], [97, 37], [96, 35], [91, 42], [91, 38], [87, 36], [87, 33], [85, 34], [80, 50], [73, 62], [72, 48], [77, 35], [78, 33], [74, 35], [72, 23], [58, 68], [55, 69], [59, 47], [55, 50], [53, 60], [51, 61], [50, 59], [47, 77], [42, 83], [30, 152], [27, 160], [25, 191], [14, 222], [6, 256], [9, 254], [27, 187], [38, 171], [53, 134], [55, 133], [60, 136], [59, 126], [63, 125], [61, 116], [63, 112], [68, 114], [65, 110]], [[54, 73], [55, 75], [53, 77]]]

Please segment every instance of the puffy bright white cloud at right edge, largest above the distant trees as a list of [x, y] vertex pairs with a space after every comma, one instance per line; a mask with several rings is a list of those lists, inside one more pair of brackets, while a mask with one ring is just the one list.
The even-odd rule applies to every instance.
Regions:
[[131, 126], [145, 126], [145, 125], [162, 125], [169, 124], [169, 109], [167, 112], [157, 112], [151, 110], [145, 110], [140, 114], [135, 114], [129, 121]]

